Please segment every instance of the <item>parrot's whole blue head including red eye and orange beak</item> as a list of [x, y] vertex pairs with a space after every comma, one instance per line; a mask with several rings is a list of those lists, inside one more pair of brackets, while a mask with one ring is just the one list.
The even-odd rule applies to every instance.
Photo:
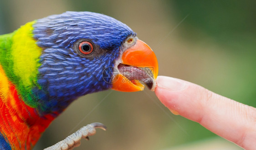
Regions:
[[65, 108], [101, 90], [143, 90], [140, 82], [154, 89], [156, 56], [122, 22], [92, 12], [66, 12], [37, 20], [33, 28], [43, 49], [37, 77], [41, 88], [35, 91], [47, 101], [45, 107]]

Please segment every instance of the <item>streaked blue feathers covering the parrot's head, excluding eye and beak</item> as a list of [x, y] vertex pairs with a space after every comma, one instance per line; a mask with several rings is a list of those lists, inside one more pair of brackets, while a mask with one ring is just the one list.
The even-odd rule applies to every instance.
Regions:
[[[33, 27], [37, 45], [43, 48], [40, 88], [33, 91], [43, 114], [61, 112], [81, 95], [111, 88], [110, 81], [102, 78], [103, 70], [114, 66], [124, 40], [136, 35], [120, 21], [92, 12], [51, 15], [37, 20]], [[103, 52], [81, 57], [73, 48], [81, 39], [91, 40]]]

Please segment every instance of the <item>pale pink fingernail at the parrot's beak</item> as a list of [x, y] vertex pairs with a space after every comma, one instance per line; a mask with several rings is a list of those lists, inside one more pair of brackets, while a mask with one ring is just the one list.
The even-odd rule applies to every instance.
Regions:
[[186, 82], [168, 76], [158, 76], [156, 79], [156, 83], [158, 87], [171, 91], [183, 90], [186, 85]]

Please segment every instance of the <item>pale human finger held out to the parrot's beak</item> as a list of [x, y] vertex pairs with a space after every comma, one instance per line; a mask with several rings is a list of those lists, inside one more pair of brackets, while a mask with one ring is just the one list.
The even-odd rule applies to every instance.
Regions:
[[246, 150], [256, 149], [256, 108], [184, 80], [158, 76], [156, 83], [155, 94], [175, 115], [196, 121]]

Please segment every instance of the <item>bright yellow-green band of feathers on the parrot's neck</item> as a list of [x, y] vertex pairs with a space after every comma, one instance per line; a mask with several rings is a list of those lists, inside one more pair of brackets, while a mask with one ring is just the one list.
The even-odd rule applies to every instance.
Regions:
[[15, 84], [20, 98], [33, 108], [37, 107], [37, 98], [32, 90], [39, 88], [37, 75], [42, 51], [33, 39], [32, 25], [35, 22], [21, 26], [13, 33], [0, 35], [0, 65]]

